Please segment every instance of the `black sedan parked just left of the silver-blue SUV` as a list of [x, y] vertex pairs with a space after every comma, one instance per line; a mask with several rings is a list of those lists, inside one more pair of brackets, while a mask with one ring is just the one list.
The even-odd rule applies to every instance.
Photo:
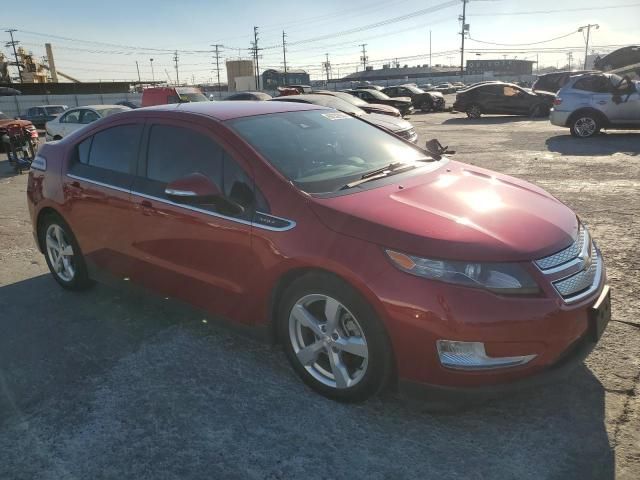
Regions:
[[483, 114], [549, 115], [555, 95], [549, 92], [525, 90], [513, 83], [487, 83], [456, 94], [453, 109], [466, 112], [469, 118]]

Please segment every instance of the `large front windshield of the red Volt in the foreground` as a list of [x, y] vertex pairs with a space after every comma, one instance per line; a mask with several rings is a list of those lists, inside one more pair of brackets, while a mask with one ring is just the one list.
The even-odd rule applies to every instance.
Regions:
[[274, 113], [230, 124], [280, 173], [309, 193], [334, 192], [385, 165], [428, 158], [393, 135], [335, 110]]

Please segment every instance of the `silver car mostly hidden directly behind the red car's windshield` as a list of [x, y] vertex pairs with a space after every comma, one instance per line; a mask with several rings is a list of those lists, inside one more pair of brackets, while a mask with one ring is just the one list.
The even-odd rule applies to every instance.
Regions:
[[403, 120], [402, 118], [390, 117], [389, 115], [380, 115], [378, 113], [366, 113], [364, 110], [356, 107], [352, 103], [346, 102], [332, 95], [318, 95], [307, 93], [304, 95], [277, 97], [272, 99], [271, 101], [308, 103], [312, 105], [333, 108], [353, 117], [361, 118], [369, 123], [373, 123], [374, 125], [380, 128], [384, 128], [385, 130], [392, 132], [409, 142], [416, 143], [418, 141], [418, 134], [416, 133], [416, 129], [413, 128], [413, 125], [411, 125], [406, 120]]

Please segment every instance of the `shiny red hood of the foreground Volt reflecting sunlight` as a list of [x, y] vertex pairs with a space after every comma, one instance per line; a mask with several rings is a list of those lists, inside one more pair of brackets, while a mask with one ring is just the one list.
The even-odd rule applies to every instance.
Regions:
[[525, 181], [446, 160], [423, 168], [383, 186], [312, 197], [311, 208], [336, 232], [451, 260], [530, 261], [567, 247], [577, 234], [576, 215]]

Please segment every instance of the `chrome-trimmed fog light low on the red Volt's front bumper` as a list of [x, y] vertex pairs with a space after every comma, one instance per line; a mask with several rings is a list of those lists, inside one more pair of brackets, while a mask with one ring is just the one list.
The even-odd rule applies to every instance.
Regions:
[[482, 342], [456, 342], [438, 340], [440, 363], [447, 368], [458, 370], [489, 370], [524, 365], [536, 358], [536, 355], [519, 357], [489, 357]]

